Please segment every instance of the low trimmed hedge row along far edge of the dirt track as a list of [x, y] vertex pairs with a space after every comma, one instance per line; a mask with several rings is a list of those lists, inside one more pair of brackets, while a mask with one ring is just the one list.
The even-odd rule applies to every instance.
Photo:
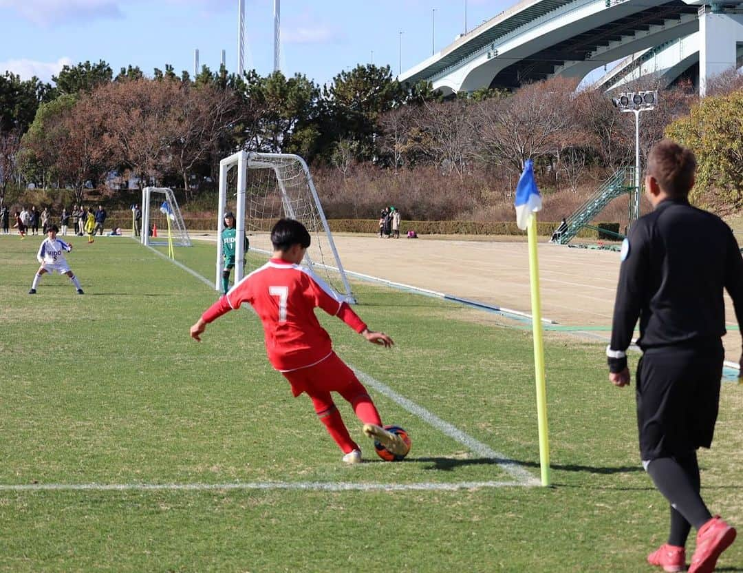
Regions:
[[[184, 217], [184, 223], [189, 231], [213, 231], [216, 228], [215, 220], [204, 217]], [[260, 225], [264, 230], [269, 230], [273, 225], [273, 220], [265, 220], [264, 225]], [[331, 219], [328, 220], [331, 231], [334, 233], [361, 233], [377, 234], [379, 233], [379, 221], [374, 219]], [[541, 236], [550, 236], [557, 228], [559, 223], [538, 221], [536, 223], [536, 232]], [[122, 217], [119, 214], [109, 217], [106, 221], [106, 227], [119, 226], [122, 228], [131, 228], [131, 217]], [[594, 223], [594, 226], [606, 228], [609, 231], [619, 232], [619, 223]], [[516, 221], [501, 222], [479, 222], [479, 221], [405, 221], [400, 223], [400, 234], [407, 234], [408, 231], [415, 231], [418, 234], [470, 234], [470, 235], [522, 235], [522, 231], [516, 226]], [[582, 238], [612, 240], [614, 237], [596, 231], [595, 229], [583, 228], [577, 235]]]

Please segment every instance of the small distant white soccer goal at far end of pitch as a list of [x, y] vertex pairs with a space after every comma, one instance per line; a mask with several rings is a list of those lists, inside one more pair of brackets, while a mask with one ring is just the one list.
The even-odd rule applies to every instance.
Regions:
[[172, 189], [146, 187], [142, 190], [140, 235], [143, 245], [191, 246], [191, 238]]

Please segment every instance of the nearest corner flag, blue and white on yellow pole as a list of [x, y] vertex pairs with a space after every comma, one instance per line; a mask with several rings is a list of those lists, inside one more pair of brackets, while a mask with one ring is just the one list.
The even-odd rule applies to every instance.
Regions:
[[547, 426], [547, 387], [545, 384], [545, 348], [542, 341], [542, 301], [539, 298], [539, 257], [536, 251], [536, 211], [542, 210], [542, 196], [534, 180], [534, 162], [527, 159], [519, 185], [516, 185], [516, 225], [529, 235], [529, 279], [531, 283], [531, 320], [534, 342], [534, 379], [536, 382], [536, 420], [539, 428], [539, 467], [542, 485], [550, 484], [550, 439]]

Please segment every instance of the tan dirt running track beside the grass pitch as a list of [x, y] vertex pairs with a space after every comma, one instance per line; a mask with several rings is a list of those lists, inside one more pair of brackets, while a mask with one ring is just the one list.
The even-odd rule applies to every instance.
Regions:
[[[334, 240], [348, 271], [531, 313], [525, 240], [380, 239], [343, 234], [334, 234]], [[270, 249], [266, 235], [251, 235], [250, 245]], [[542, 237], [542, 316], [564, 326], [594, 327], [592, 336], [608, 341], [619, 265], [618, 252], [553, 245]], [[727, 324], [735, 325], [727, 295], [725, 312]], [[739, 332], [731, 330], [723, 342], [725, 358], [738, 362]]]

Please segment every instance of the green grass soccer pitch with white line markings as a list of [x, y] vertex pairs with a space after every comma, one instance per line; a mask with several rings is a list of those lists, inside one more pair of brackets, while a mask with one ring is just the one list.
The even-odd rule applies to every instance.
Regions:
[[[378, 460], [339, 403], [366, 446], [366, 463], [345, 467], [308, 398], [268, 365], [253, 313], [192, 341], [214, 290], [126, 237], [74, 239], [85, 295], [45, 275], [29, 296], [39, 241], [0, 237], [0, 571], [652, 570], [668, 512], [637, 459], [633, 391], [606, 381], [603, 345], [546, 333], [554, 486], [533, 487], [531, 333], [355, 283], [357, 311], [395, 348], [322, 324], [413, 446], [406, 461]], [[213, 243], [177, 257], [212, 278]], [[716, 444], [701, 454], [707, 502], [739, 526], [742, 390], [723, 385]], [[743, 542], [719, 566], [743, 571]]]

